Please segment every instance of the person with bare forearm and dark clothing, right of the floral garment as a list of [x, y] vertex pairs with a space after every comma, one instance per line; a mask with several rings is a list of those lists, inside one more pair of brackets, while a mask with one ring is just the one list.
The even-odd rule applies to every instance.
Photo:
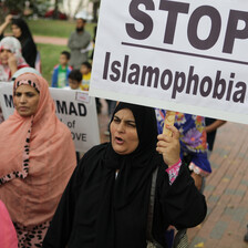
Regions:
[[210, 156], [214, 149], [217, 128], [224, 125], [226, 121], [205, 117], [205, 123], [206, 123], [206, 132], [207, 132], [208, 156]]

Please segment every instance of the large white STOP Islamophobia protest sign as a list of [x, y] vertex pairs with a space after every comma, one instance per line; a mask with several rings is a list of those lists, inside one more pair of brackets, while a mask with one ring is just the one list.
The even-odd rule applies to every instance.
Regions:
[[90, 95], [248, 123], [247, 0], [102, 0]]

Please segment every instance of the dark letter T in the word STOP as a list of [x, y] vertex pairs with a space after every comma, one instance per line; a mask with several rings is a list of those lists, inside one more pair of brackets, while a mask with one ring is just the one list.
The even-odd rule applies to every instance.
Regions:
[[189, 3], [161, 0], [159, 10], [168, 11], [164, 43], [173, 44], [178, 13], [188, 13]]

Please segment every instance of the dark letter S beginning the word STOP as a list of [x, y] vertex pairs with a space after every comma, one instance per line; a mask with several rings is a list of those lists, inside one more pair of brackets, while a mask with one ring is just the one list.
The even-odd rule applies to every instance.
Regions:
[[146, 10], [155, 10], [154, 2], [151, 0], [133, 0], [130, 3], [131, 17], [143, 24], [143, 30], [135, 29], [135, 24], [126, 23], [127, 34], [136, 40], [145, 40], [153, 31], [153, 19], [145, 12], [138, 9], [140, 4], [144, 4]]

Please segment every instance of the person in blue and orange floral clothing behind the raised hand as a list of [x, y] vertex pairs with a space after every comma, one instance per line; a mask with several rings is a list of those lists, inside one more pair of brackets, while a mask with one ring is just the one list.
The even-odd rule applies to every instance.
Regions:
[[[158, 133], [163, 133], [165, 110], [156, 108]], [[211, 173], [210, 163], [207, 156], [207, 141], [205, 118], [192, 114], [176, 112], [175, 127], [179, 131], [180, 158], [185, 162], [200, 193], [205, 187], [205, 178]], [[185, 231], [186, 230], [180, 230]], [[168, 244], [174, 242], [174, 227], [166, 231]]]

